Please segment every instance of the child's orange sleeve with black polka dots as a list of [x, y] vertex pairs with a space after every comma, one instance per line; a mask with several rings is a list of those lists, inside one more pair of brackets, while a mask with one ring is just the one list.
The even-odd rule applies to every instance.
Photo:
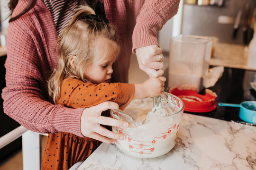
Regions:
[[91, 107], [102, 102], [111, 101], [124, 110], [134, 95], [134, 84], [101, 83], [95, 85], [81, 80], [65, 79], [58, 103], [72, 108]]

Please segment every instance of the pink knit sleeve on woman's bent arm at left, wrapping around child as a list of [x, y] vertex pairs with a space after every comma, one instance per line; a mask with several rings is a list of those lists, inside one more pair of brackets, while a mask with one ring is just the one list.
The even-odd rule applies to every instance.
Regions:
[[46, 76], [42, 73], [50, 72], [50, 68], [45, 67], [43, 45], [36, 43], [26, 22], [30, 20], [17, 19], [8, 28], [4, 112], [32, 131], [82, 136], [80, 119], [84, 108], [65, 108], [46, 101]]

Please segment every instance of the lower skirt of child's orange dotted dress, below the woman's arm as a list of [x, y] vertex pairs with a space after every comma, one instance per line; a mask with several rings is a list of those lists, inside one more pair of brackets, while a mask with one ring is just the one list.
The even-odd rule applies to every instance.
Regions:
[[[99, 141], [87, 141], [86, 138], [67, 132], [49, 134], [46, 142], [49, 144], [46, 144], [45, 152], [43, 153], [42, 170], [60, 168], [68, 170], [76, 161], [87, 159], [101, 144]], [[53, 144], [57, 145], [57, 147], [52, 147]], [[49, 151], [49, 153], [47, 154], [46, 151]]]

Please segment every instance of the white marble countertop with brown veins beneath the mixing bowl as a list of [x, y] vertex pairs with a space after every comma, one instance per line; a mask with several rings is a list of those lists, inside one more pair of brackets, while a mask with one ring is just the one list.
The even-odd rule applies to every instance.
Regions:
[[169, 153], [140, 159], [101, 144], [78, 170], [256, 170], [256, 127], [184, 113]]

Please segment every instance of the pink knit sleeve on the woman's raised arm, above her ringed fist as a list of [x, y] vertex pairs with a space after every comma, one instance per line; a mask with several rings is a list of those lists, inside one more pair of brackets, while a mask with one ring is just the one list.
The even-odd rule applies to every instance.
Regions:
[[156, 32], [178, 12], [180, 0], [146, 0], [136, 19], [132, 35], [132, 51], [158, 45]]

